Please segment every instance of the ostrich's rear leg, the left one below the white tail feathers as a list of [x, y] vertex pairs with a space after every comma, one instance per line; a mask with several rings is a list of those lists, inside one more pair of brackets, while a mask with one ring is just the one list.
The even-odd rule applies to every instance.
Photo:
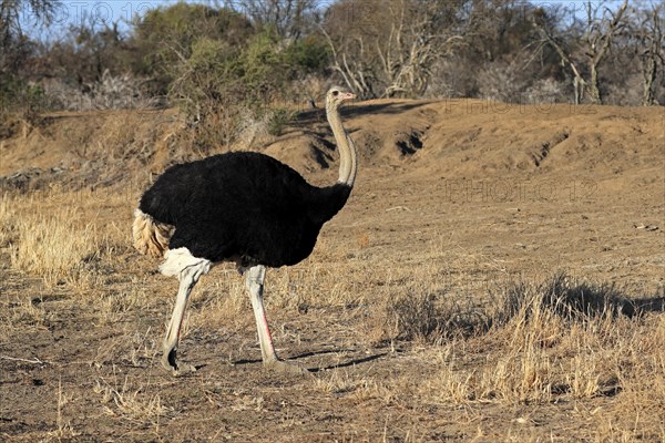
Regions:
[[207, 270], [202, 268], [202, 266], [193, 265], [184, 268], [178, 275], [180, 288], [177, 290], [173, 315], [171, 316], [171, 321], [166, 329], [166, 337], [164, 337], [164, 354], [162, 356], [162, 367], [172, 371], [174, 375], [196, 371], [196, 368], [191, 364], [178, 363], [176, 353], [187, 299], [190, 298], [194, 285], [198, 281], [198, 278], [206, 271]]

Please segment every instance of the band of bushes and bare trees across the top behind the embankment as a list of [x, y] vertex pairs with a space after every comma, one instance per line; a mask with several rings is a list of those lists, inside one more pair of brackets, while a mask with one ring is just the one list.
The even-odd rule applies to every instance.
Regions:
[[4, 114], [177, 105], [205, 146], [278, 134], [331, 82], [362, 99], [665, 103], [662, 0], [168, 2], [129, 23], [83, 14], [39, 41], [22, 28], [63, 8], [1, 2]]

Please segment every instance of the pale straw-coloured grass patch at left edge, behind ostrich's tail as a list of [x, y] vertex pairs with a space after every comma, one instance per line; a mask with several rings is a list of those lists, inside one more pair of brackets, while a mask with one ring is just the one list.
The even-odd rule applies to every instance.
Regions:
[[[102, 195], [103, 194], [103, 195]], [[129, 250], [121, 222], [91, 217], [126, 195], [91, 190], [50, 189], [0, 202], [0, 247], [7, 247], [12, 267], [39, 277], [47, 288], [64, 286], [83, 293], [103, 284]], [[103, 208], [103, 209], [102, 209]]]

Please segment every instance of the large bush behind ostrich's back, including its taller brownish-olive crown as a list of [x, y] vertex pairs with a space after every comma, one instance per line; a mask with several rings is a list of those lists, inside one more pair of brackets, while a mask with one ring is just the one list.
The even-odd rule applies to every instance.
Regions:
[[143, 69], [184, 113], [200, 150], [232, 144], [257, 124], [282, 134], [293, 120], [285, 104], [297, 95], [294, 81], [324, 72], [329, 61], [323, 38], [284, 40], [224, 8], [158, 8], [135, 29], [134, 42], [146, 54]]

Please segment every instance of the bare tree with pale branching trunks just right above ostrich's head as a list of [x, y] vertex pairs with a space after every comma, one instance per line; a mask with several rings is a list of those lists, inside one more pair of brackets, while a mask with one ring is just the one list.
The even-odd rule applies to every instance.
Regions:
[[362, 96], [421, 95], [436, 60], [462, 40], [463, 1], [346, 0], [323, 25], [332, 69]]

